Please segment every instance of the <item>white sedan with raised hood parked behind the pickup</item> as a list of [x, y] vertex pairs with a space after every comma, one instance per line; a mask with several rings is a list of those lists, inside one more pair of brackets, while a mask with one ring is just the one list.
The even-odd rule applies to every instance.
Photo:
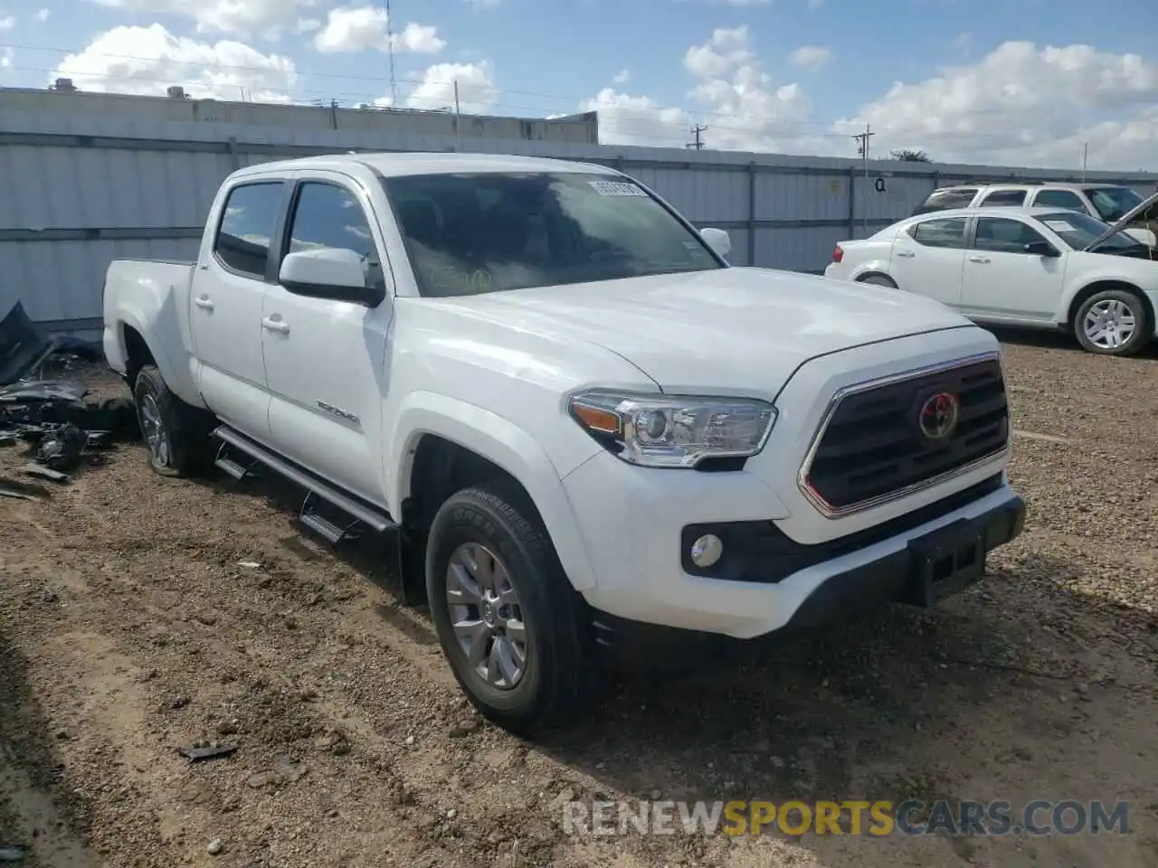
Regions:
[[826, 277], [904, 289], [995, 325], [1072, 331], [1092, 353], [1129, 355], [1156, 337], [1158, 256], [1113, 227], [1061, 208], [970, 208], [907, 218], [842, 241]]

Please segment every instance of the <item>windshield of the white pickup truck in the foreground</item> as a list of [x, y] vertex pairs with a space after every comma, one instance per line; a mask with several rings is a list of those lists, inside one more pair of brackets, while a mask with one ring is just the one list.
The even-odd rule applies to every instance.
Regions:
[[697, 233], [620, 176], [411, 175], [383, 184], [427, 296], [724, 267]]

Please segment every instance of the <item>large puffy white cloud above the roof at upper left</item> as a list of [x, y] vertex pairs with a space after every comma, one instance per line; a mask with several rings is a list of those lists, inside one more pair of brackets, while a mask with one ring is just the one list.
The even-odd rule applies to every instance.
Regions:
[[217, 43], [174, 36], [160, 24], [115, 27], [69, 54], [49, 75], [69, 78], [81, 90], [161, 96], [181, 84], [193, 98], [237, 100], [245, 88], [256, 102], [290, 102], [296, 83], [293, 60], [263, 54], [230, 39]]

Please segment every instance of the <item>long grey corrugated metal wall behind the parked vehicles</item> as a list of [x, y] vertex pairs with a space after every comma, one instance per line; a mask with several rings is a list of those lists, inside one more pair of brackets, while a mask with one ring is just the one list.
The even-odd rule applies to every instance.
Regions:
[[[28, 111], [0, 102], [0, 311], [21, 300], [60, 330], [100, 328], [113, 258], [197, 255], [221, 179], [274, 159], [344, 152], [453, 150], [442, 135], [175, 122], [132, 115]], [[462, 150], [614, 165], [652, 186], [697, 226], [732, 230], [738, 265], [819, 271], [834, 244], [906, 216], [937, 185], [963, 178], [1072, 179], [1032, 169], [463, 139]], [[1151, 191], [1158, 175], [1090, 172]]]

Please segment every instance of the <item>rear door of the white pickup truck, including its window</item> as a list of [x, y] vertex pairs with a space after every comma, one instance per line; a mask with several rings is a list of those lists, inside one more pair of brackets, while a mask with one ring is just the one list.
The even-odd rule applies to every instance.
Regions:
[[193, 272], [189, 314], [201, 397], [223, 421], [263, 442], [270, 433], [270, 396], [262, 304], [285, 192], [286, 182], [262, 181], [226, 193], [212, 243], [203, 245]]

